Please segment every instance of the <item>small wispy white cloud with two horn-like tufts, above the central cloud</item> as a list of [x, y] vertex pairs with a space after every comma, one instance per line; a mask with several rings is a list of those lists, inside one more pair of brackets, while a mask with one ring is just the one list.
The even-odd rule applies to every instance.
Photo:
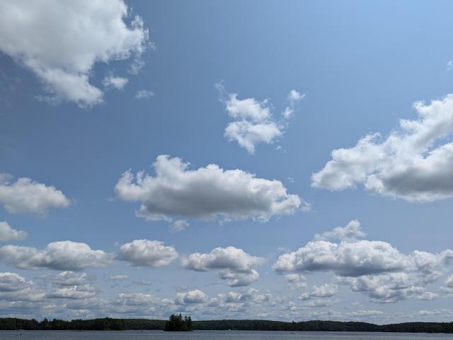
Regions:
[[282, 113], [282, 120], [273, 117], [269, 100], [259, 102], [255, 98], [238, 99], [236, 93], [226, 93], [224, 86], [216, 84], [228, 115], [235, 119], [225, 129], [224, 136], [229, 141], [237, 141], [248, 153], [255, 153], [259, 143], [274, 143], [282, 136], [287, 126], [287, 119], [294, 112], [294, 105], [301, 100], [301, 95], [292, 90], [288, 95], [288, 106]]

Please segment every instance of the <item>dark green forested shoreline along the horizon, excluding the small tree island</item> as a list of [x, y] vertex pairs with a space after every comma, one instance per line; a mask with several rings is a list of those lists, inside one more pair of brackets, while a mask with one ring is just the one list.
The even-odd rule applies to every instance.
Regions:
[[[166, 320], [148, 319], [92, 319], [92, 320], [25, 320], [0, 318], [1, 330], [164, 330]], [[244, 331], [306, 331], [306, 332], [410, 332], [453, 333], [453, 322], [405, 322], [401, 324], [370, 324], [367, 322], [272, 320], [205, 320], [193, 321], [194, 330]]]

